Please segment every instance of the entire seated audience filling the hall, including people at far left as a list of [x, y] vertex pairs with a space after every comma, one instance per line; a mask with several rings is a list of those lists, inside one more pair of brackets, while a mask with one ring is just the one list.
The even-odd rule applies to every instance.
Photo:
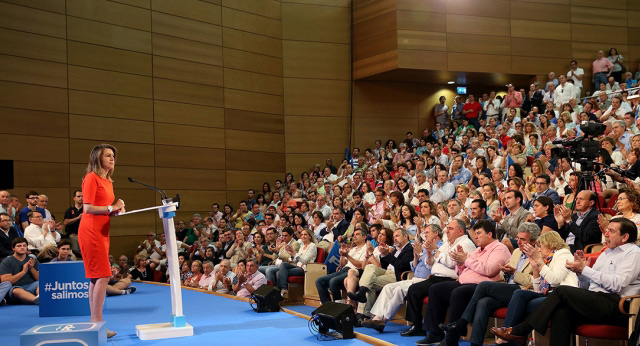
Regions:
[[[435, 130], [419, 138], [407, 132], [400, 143], [353, 148], [339, 167], [327, 159], [297, 181], [287, 173], [259, 193], [249, 189], [235, 209], [213, 203], [204, 218], [178, 220], [181, 284], [246, 298], [271, 282], [286, 298], [287, 279], [304, 275], [322, 250], [339, 265], [316, 281], [321, 302], [346, 299], [359, 323], [382, 332], [406, 301], [411, 327], [402, 335], [425, 336], [419, 345], [457, 345], [470, 323], [471, 344], [481, 345], [503, 307], [505, 327], [494, 333], [515, 344], [549, 323], [552, 345], [568, 344], [581, 323], [625, 325], [618, 301], [640, 293], [640, 98], [627, 90], [637, 81], [614, 70], [600, 52], [594, 73], [604, 86], [584, 102], [575, 61], [566, 75], [550, 73], [545, 89], [456, 96], [452, 109], [441, 97]], [[589, 135], [580, 122], [603, 124], [594, 162], [553, 150], [563, 151], [558, 140]], [[65, 244], [79, 255], [81, 192], [64, 226], [41, 197], [30, 192], [20, 210], [0, 191], [1, 250], [13, 257], [0, 279], [22, 287], [9, 297], [23, 301], [37, 302], [21, 282], [37, 280], [27, 251], [64, 260], [69, 249], [47, 249]], [[594, 244], [602, 249], [585, 254]], [[164, 235], [149, 232], [132, 267], [125, 256], [113, 263], [114, 290], [166, 277], [165, 251]]]

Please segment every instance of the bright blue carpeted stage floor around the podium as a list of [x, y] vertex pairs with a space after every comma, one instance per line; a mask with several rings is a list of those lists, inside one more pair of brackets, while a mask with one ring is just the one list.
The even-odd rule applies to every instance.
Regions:
[[[171, 298], [168, 286], [136, 283], [132, 295], [107, 298], [104, 319], [107, 328], [118, 332], [109, 345], [307, 345], [326, 344], [316, 340], [307, 320], [285, 312], [258, 314], [249, 303], [192, 290], [183, 290], [187, 322], [194, 327], [188, 338], [141, 341], [136, 324], [168, 322]], [[37, 306], [0, 307], [0, 344], [19, 345], [20, 334], [37, 324], [88, 321], [88, 316], [38, 317]], [[366, 345], [352, 340], [336, 340], [335, 345]]]

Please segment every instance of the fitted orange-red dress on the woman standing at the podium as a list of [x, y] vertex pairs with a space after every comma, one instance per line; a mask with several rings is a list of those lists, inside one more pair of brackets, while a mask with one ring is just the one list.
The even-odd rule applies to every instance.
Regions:
[[[95, 206], [112, 205], [115, 199], [113, 184], [91, 172], [82, 180], [84, 203]], [[84, 213], [78, 228], [78, 243], [87, 278], [111, 276], [109, 265], [109, 214]]]

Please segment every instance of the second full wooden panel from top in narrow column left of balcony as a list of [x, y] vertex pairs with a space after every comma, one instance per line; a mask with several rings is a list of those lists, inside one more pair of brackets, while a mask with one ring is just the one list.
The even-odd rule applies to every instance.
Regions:
[[350, 79], [349, 45], [283, 41], [284, 77]]

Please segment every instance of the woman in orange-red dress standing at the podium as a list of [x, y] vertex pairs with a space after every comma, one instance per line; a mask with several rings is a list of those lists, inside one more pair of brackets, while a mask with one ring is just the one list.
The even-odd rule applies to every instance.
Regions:
[[[115, 204], [111, 175], [116, 164], [117, 149], [110, 144], [96, 145], [89, 156], [87, 175], [82, 180], [84, 213], [78, 229], [78, 243], [89, 285], [91, 322], [102, 321], [102, 307], [111, 277], [109, 264], [110, 217], [125, 212], [124, 201]], [[107, 336], [116, 333], [107, 330]]]

